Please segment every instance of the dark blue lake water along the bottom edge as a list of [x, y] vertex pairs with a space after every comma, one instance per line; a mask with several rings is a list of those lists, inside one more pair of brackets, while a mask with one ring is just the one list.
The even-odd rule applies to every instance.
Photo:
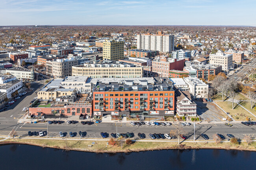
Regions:
[[256, 152], [236, 150], [191, 149], [96, 154], [14, 144], [0, 146], [0, 154], [1, 170], [256, 169]]

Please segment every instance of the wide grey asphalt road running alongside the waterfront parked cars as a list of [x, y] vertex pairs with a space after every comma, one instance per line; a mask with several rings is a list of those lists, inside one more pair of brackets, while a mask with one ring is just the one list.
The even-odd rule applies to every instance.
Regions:
[[[43, 130], [46, 134], [47, 132], [47, 123], [20, 123], [13, 124], [9, 121], [1, 121], [0, 124], [0, 135], [9, 135], [11, 130], [16, 130], [17, 135], [26, 135], [28, 131], [39, 131]], [[250, 135], [252, 138], [256, 138], [256, 126], [244, 126], [240, 123], [232, 123], [232, 127], [225, 126], [223, 123], [204, 123], [204, 124], [196, 124], [196, 138], [199, 137], [201, 133], [206, 133], [210, 139], [213, 139], [213, 134], [221, 133], [226, 136], [226, 133], [231, 133], [234, 136], [243, 139], [244, 135]], [[169, 133], [170, 130], [175, 130], [176, 128], [181, 127], [179, 124], [172, 124], [171, 126], [132, 126], [129, 123], [100, 123], [98, 125], [83, 125], [80, 122], [76, 124], [67, 124], [63, 122], [62, 124], [48, 124], [48, 137], [59, 137], [58, 133], [63, 132], [67, 137], [69, 132], [73, 132], [76, 137], [78, 136], [78, 132], [81, 130], [85, 132], [85, 138], [101, 138], [100, 132], [105, 132], [109, 136], [110, 133], [126, 133], [130, 132], [137, 137], [137, 133], [144, 133], [146, 139], [149, 139], [148, 133]], [[182, 127], [184, 133], [186, 133], [189, 139], [193, 139], [194, 128], [191, 126]], [[227, 137], [228, 138], [228, 137]], [[201, 137], [198, 139], [202, 140]]]

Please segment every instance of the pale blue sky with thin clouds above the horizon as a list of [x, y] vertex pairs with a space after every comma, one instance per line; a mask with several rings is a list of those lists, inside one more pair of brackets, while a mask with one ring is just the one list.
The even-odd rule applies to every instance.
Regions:
[[256, 26], [256, 0], [0, 0], [0, 26]]

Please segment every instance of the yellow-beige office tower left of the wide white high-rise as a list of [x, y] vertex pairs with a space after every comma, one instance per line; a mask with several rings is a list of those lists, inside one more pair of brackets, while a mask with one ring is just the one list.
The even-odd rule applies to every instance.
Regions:
[[103, 42], [103, 60], [119, 60], [124, 58], [124, 42], [106, 40]]

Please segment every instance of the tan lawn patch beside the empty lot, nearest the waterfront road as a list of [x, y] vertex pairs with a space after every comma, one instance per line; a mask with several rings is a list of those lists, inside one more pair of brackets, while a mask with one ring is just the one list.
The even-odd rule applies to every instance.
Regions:
[[[233, 119], [235, 119], [236, 121], [246, 121], [246, 117], [252, 117], [253, 116], [247, 112], [246, 110], [244, 110], [242, 107], [240, 106], [236, 106], [236, 108], [233, 110], [232, 109], [232, 103], [231, 102], [216, 102], [223, 110], [225, 110], [226, 112], [229, 112], [230, 115], [232, 115]], [[236, 116], [235, 116], [236, 115]], [[238, 117], [238, 119], [237, 119]]]

